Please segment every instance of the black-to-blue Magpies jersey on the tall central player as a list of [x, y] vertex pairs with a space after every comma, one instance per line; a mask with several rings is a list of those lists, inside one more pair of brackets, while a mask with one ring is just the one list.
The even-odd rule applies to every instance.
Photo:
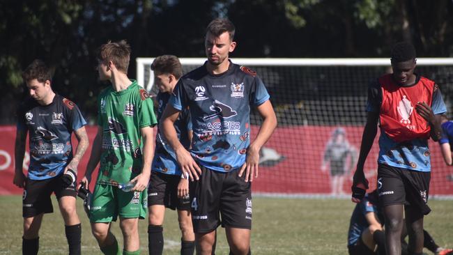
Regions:
[[229, 69], [211, 75], [205, 65], [179, 80], [170, 104], [189, 107], [194, 138], [192, 156], [202, 166], [227, 172], [245, 163], [250, 144], [250, 109], [269, 100], [256, 72], [230, 62]]

